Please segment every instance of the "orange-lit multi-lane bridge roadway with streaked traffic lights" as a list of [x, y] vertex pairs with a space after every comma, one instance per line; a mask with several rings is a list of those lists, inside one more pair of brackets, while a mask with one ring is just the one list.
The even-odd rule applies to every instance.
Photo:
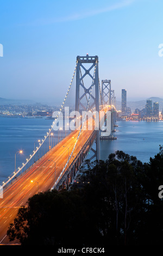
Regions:
[[[82, 139], [78, 140], [77, 144], [79, 149], [83, 148], [87, 139], [93, 132], [93, 130], [82, 131]], [[72, 131], [70, 135], [51, 149], [39, 161], [34, 163], [32, 167], [12, 181], [12, 184], [4, 188], [3, 198], [0, 198], [1, 245], [18, 243], [18, 241], [9, 242], [7, 230], [9, 224], [14, 221], [18, 208], [23, 205], [27, 206], [28, 198], [37, 193], [37, 183], [31, 182], [31, 180], [38, 182], [39, 192], [50, 190], [54, 186], [54, 181], [58, 179], [62, 169], [65, 167], [68, 160], [68, 153], [72, 152], [78, 135], [79, 130]], [[68, 147], [69, 152], [68, 149], [63, 146]], [[73, 157], [75, 158], [76, 155], [77, 151], [74, 150]]]

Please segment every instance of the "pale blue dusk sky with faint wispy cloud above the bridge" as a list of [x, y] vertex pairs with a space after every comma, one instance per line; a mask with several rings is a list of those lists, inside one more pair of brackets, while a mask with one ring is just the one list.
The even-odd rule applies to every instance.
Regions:
[[118, 100], [163, 98], [162, 0], [1, 1], [0, 97], [62, 102], [78, 55]]

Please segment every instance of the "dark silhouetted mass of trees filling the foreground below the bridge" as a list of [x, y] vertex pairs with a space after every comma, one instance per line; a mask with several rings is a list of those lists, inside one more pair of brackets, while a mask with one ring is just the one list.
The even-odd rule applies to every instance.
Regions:
[[[47, 191], [28, 200], [10, 224], [22, 245], [161, 245], [163, 150], [149, 163], [122, 151], [82, 176], [83, 188]], [[88, 183], [89, 182], [89, 183]]]

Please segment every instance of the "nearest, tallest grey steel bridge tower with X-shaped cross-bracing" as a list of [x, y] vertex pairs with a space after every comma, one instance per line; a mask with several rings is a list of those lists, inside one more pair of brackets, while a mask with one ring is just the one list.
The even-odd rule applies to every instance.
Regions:
[[[87, 67], [87, 63], [90, 64], [89, 68]], [[95, 74], [92, 75], [93, 68], [95, 68]], [[84, 70], [84, 74], [82, 71]], [[92, 78], [92, 84], [88, 87], [85, 86], [83, 80], [85, 77]], [[92, 88], [95, 88], [95, 95], [93, 95]], [[80, 96], [80, 92], [83, 92]], [[76, 111], [80, 111], [80, 109], [84, 109], [86, 111], [86, 107], [84, 106], [83, 99], [87, 100], [87, 95], [90, 96], [92, 102], [89, 105], [87, 111], [92, 109], [93, 107], [99, 113], [99, 75], [98, 75], [98, 56], [77, 56], [77, 70], [76, 70]], [[99, 129], [96, 131], [96, 150], [93, 151], [94, 155], [91, 157], [92, 160], [96, 157], [96, 160], [100, 160], [100, 144], [99, 144]]]

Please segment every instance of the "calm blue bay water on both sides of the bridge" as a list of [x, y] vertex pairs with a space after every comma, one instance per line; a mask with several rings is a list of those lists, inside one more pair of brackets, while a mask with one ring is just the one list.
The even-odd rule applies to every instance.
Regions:
[[[0, 118], [0, 185], [39, 145], [53, 123], [47, 118]], [[159, 153], [163, 145], [163, 121], [117, 121], [114, 141], [101, 141], [101, 159], [122, 150], [142, 162]], [[18, 151], [23, 150], [23, 154]]]

